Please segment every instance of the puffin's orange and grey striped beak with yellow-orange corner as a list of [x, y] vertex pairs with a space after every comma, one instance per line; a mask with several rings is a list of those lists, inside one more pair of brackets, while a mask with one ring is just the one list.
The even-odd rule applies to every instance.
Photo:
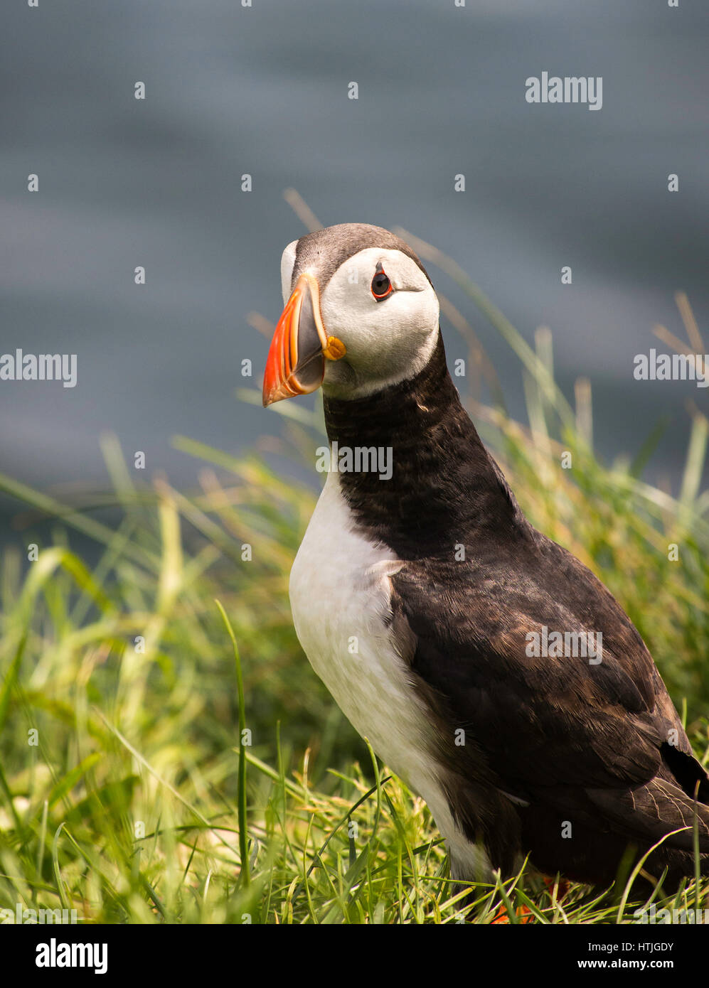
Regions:
[[264, 408], [315, 391], [325, 375], [325, 358], [338, 361], [344, 355], [344, 344], [328, 337], [322, 325], [316, 279], [308, 273], [301, 275], [271, 341], [263, 375]]

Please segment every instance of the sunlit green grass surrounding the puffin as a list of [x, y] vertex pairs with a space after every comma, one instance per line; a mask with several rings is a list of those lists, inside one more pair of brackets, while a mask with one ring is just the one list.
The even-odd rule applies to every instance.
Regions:
[[[706, 419], [693, 415], [675, 496], [643, 480], [657, 432], [604, 465], [589, 385], [574, 402], [560, 392], [550, 334], [530, 349], [449, 259], [408, 239], [520, 362], [526, 426], [443, 299], [469, 346], [471, 412], [523, 509], [627, 610], [706, 764]], [[282, 439], [269, 450], [311, 463], [319, 411], [276, 407]], [[456, 891], [427, 807], [356, 736], [296, 639], [288, 573], [315, 495], [255, 454], [175, 445], [201, 461], [196, 491], [138, 484], [111, 437], [110, 494], [68, 505], [0, 476], [25, 547], [6, 550], [0, 571], [0, 909], [63, 906], [86, 923], [487, 924], [518, 922], [524, 906], [539, 923], [633, 922], [644, 900], [632, 883], [623, 895], [560, 889], [527, 866]], [[25, 564], [46, 519], [51, 536]], [[90, 565], [76, 548], [87, 539], [101, 547]], [[654, 894], [709, 908], [707, 881]]]

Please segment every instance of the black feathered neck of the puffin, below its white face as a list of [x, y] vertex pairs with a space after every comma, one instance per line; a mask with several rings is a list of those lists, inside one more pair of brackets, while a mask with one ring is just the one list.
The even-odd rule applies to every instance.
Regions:
[[443, 340], [415, 377], [351, 401], [324, 398], [330, 447], [377, 448], [379, 471], [338, 471], [357, 522], [399, 558], [452, 552], [483, 529], [508, 533], [521, 513], [463, 408]]

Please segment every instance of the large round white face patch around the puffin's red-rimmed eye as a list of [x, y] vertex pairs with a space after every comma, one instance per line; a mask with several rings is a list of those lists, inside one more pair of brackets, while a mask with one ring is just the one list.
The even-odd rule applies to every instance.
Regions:
[[[378, 264], [394, 287], [382, 301], [372, 294]], [[347, 348], [342, 360], [325, 362], [322, 388], [333, 397], [362, 397], [415, 376], [438, 339], [436, 293], [399, 250], [368, 247], [348, 258], [322, 292], [320, 311], [325, 332]]]

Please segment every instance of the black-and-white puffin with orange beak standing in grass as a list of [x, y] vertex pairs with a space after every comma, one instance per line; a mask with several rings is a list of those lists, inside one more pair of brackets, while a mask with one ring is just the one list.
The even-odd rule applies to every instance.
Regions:
[[709, 777], [661, 675], [610, 592], [520, 510], [416, 254], [341, 223], [290, 243], [281, 282], [263, 404], [321, 387], [331, 453], [291, 571], [295, 629], [427, 803], [452, 878], [528, 859], [609, 887], [647, 855], [640, 880], [669, 887], [694, 874], [695, 840], [709, 873]]

